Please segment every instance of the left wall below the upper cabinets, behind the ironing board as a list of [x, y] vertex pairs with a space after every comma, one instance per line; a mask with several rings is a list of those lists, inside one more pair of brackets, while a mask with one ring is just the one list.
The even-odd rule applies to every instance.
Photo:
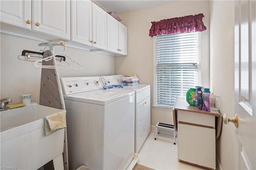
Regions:
[[[17, 58], [22, 50], [39, 51], [37, 40], [0, 34], [1, 36], [1, 91], [0, 97], [9, 97], [12, 104], [22, 103], [22, 94], [32, 94], [32, 101], [39, 103], [41, 69], [33, 62]], [[114, 57], [75, 48], [66, 48], [69, 57], [82, 65], [82, 69], [58, 69], [60, 77], [100, 76], [114, 74]]]

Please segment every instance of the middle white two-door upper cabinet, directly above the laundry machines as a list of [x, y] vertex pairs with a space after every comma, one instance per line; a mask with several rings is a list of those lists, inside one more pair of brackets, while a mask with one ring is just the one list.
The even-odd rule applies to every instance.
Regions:
[[[107, 13], [90, 0], [72, 0], [72, 42], [90, 50], [107, 49]], [[80, 47], [83, 47], [79, 44]]]

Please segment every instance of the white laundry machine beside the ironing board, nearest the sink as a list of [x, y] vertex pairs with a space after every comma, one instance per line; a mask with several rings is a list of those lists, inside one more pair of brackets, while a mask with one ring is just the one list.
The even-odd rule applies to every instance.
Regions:
[[100, 77], [60, 78], [66, 105], [69, 169], [126, 169], [134, 153], [132, 91], [106, 91]]

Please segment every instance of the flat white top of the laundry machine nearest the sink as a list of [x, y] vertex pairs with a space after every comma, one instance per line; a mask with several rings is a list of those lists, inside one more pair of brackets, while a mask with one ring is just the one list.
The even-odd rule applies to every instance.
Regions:
[[134, 91], [109, 91], [100, 89], [72, 95], [64, 95], [64, 99], [96, 105], [107, 105], [130, 95], [134, 95]]

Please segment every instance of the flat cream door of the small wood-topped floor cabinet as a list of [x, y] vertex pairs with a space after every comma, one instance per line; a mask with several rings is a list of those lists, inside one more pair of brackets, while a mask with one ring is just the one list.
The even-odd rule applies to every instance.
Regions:
[[215, 129], [178, 123], [178, 159], [215, 169]]

